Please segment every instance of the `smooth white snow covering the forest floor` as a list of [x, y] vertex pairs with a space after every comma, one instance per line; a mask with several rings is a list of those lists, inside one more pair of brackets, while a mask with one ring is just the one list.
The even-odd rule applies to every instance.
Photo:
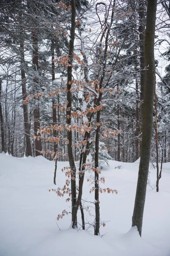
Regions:
[[[170, 256], [170, 163], [163, 165], [159, 193], [154, 188], [156, 169], [150, 169], [142, 239], [135, 228], [130, 228], [139, 161], [110, 160], [109, 164], [102, 170], [105, 184], [101, 186], [117, 189], [118, 194], [99, 195], [101, 220], [108, 222], [100, 228], [103, 236], [96, 237], [93, 229], [70, 229], [71, 215], [56, 221], [63, 209], [71, 210], [71, 202], [66, 203], [67, 197], [58, 198], [48, 189], [63, 187], [65, 175], [61, 169], [67, 162], [58, 163], [55, 186], [54, 162], [43, 157], [0, 154], [0, 256]], [[87, 182], [91, 175], [87, 173], [85, 179], [86, 201], [94, 201]], [[86, 211], [85, 221], [94, 221]]]

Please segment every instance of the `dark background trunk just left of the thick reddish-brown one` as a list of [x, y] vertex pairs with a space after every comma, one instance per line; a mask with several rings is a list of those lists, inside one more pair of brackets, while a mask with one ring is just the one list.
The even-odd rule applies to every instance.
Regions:
[[[20, 57], [21, 57], [21, 79], [22, 79], [22, 95], [23, 101], [26, 99], [26, 73], [24, 70], [24, 41], [21, 38], [20, 42]], [[24, 113], [24, 128], [25, 128], [25, 135], [26, 135], [26, 156], [32, 157], [31, 151], [31, 139], [30, 139], [30, 128], [29, 128], [29, 121], [28, 121], [28, 106], [23, 104], [23, 113]]]

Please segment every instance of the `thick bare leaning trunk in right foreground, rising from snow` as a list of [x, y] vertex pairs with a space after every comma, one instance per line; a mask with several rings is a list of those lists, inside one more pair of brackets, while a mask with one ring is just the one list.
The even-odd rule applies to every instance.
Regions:
[[155, 90], [154, 37], [156, 23], [156, 5], [157, 0], [148, 0], [146, 34], [144, 41], [144, 57], [147, 70], [144, 88], [144, 112], [142, 128], [143, 135], [136, 198], [132, 217], [132, 226], [137, 226], [140, 236], [142, 234], [142, 221], [146, 197], [147, 176], [149, 171], [153, 126], [153, 99]]

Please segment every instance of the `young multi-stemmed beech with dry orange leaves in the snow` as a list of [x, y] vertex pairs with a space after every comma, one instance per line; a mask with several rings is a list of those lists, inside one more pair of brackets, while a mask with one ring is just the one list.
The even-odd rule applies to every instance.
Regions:
[[[113, 2], [113, 4], [115, 3], [115, 1]], [[97, 13], [97, 7], [99, 4], [96, 5], [96, 13]], [[67, 67], [67, 87], [64, 88], [64, 90], [62, 89], [57, 89], [56, 91], [50, 92], [48, 93], [50, 96], [52, 95], [58, 95], [59, 93], [66, 93], [67, 95], [67, 101], [63, 102], [62, 104], [60, 104], [60, 111], [65, 111], [66, 110], [66, 125], [63, 124], [57, 124], [57, 125], [53, 125], [53, 126], [48, 126], [46, 128], [41, 127], [40, 129], [38, 129], [36, 136], [34, 137], [36, 140], [40, 140], [42, 139], [42, 137], [44, 136], [45, 133], [47, 134], [51, 134], [51, 131], [59, 131], [60, 134], [62, 134], [62, 136], [64, 135], [64, 131], [67, 131], [67, 140], [65, 140], [64, 137], [44, 137], [45, 141], [49, 141], [49, 142], [54, 142], [54, 143], [59, 143], [59, 141], [63, 141], [64, 143], [66, 143], [68, 145], [68, 160], [70, 163], [70, 167], [65, 168], [66, 172], [65, 175], [68, 177], [68, 179], [66, 180], [66, 184], [63, 186], [62, 189], [53, 189], [53, 191], [55, 191], [57, 193], [57, 195], [59, 196], [63, 196], [64, 194], [68, 194], [69, 197], [71, 196], [71, 201], [72, 201], [72, 227], [76, 227], [77, 226], [77, 211], [78, 208], [80, 206], [81, 212], [82, 212], [82, 206], [81, 206], [81, 199], [82, 199], [82, 187], [83, 187], [83, 181], [84, 181], [84, 175], [85, 175], [85, 171], [94, 171], [94, 180], [92, 183], [94, 183], [94, 186], [91, 189], [91, 192], [94, 191], [95, 192], [95, 209], [96, 209], [96, 218], [95, 218], [95, 235], [99, 234], [99, 226], [100, 226], [100, 218], [99, 218], [99, 192], [116, 192], [116, 190], [113, 189], [102, 189], [99, 186], [99, 182], [104, 183], [104, 177], [101, 177], [99, 179], [99, 174], [101, 173], [99, 170], [99, 149], [100, 150], [107, 150], [108, 148], [104, 148], [103, 146], [101, 146], [99, 148], [100, 145], [100, 141], [99, 140], [107, 140], [109, 137], [114, 137], [115, 134], [119, 134], [119, 131], [114, 131], [111, 128], [106, 128], [104, 123], [105, 122], [101, 122], [100, 119], [100, 111], [102, 111], [102, 108], [106, 107], [106, 104], [102, 103], [102, 93], [104, 93], [105, 89], [104, 89], [104, 84], [105, 84], [105, 70], [106, 70], [106, 65], [107, 65], [107, 58], [109, 56], [108, 53], [108, 39], [110, 37], [110, 30], [111, 30], [111, 26], [113, 23], [113, 15], [114, 15], [114, 11], [115, 11], [115, 7], [114, 5], [108, 7], [107, 10], [107, 6], [106, 4], [103, 4], [105, 7], [105, 12], [108, 12], [107, 17], [105, 16], [105, 20], [104, 20], [104, 31], [102, 30], [101, 32], [101, 37], [100, 37], [100, 41], [99, 41], [99, 52], [96, 55], [96, 58], [99, 59], [98, 64], [96, 64], [96, 70], [97, 72], [99, 72], [99, 70], [102, 70], [101, 75], [100, 74], [95, 74], [95, 79], [94, 80], [90, 80], [88, 81], [88, 83], [86, 81], [83, 80], [76, 80], [73, 79], [73, 72], [72, 69], [74, 68], [74, 63], [73, 61], [78, 62], [79, 65], [81, 65], [81, 68], [85, 70], [85, 62], [81, 60], [80, 57], [78, 57], [73, 51], [74, 51], [74, 34], [75, 34], [75, 26], [77, 24], [77, 26], [79, 25], [80, 21], [77, 20], [77, 22], [75, 22], [75, 17], [76, 17], [76, 13], [75, 13], [75, 3], [74, 0], [71, 1], [71, 7], [69, 8], [69, 6], [67, 7], [67, 9], [71, 9], [71, 36], [70, 36], [70, 45], [69, 45], [69, 53], [68, 55], [63, 55], [60, 56], [57, 59], [54, 59], [54, 62], [58, 62], [59, 65], [65, 65], [65, 67]], [[59, 6], [61, 7], [65, 7], [65, 5], [63, 3], [59, 3]], [[110, 8], [111, 7], [111, 8]], [[109, 12], [111, 11], [111, 15], [109, 14]], [[98, 14], [97, 14], [98, 15]], [[110, 19], [110, 23], [109, 23], [109, 19]], [[100, 20], [100, 18], [99, 18]], [[103, 39], [105, 38], [105, 42], [103, 43]], [[102, 57], [102, 47], [104, 45], [104, 57]], [[83, 56], [84, 53], [81, 52], [81, 55]], [[100, 64], [101, 63], [101, 64]], [[111, 74], [109, 75], [109, 77], [111, 77]], [[111, 88], [110, 88], [111, 89]], [[106, 93], [110, 92], [113, 93], [113, 90], [110, 90], [109, 88], [106, 89]], [[90, 108], [86, 108], [83, 109], [83, 111], [72, 111], [73, 109], [73, 93], [77, 92], [77, 91], [83, 91], [86, 90], [86, 92], [88, 93], [87, 97], [86, 97], [86, 102], [88, 102], [89, 99], [91, 99], [91, 101], [93, 101], [93, 107], [91, 106]], [[37, 97], [41, 97], [42, 94], [37, 93], [36, 94], [36, 98]], [[33, 96], [31, 96], [33, 97]], [[29, 97], [28, 97], [29, 98]], [[58, 105], [54, 105], [53, 107], [58, 107]], [[74, 122], [75, 119], [79, 118], [80, 120], [82, 119], [83, 116], [86, 116], [87, 121], [86, 122], [77, 122], [77, 124]], [[94, 122], [94, 126], [93, 126], [93, 122], [92, 122], [92, 117], [93, 122]], [[82, 123], [82, 124], [81, 124]], [[100, 126], [101, 129], [100, 129]], [[92, 138], [90, 138], [90, 134], [91, 131], [93, 130], [94, 132], [94, 136]], [[73, 147], [74, 147], [74, 143], [72, 140], [72, 131], [78, 131], [79, 133], [79, 141], [76, 143], [77, 147], [80, 148], [80, 160], [79, 160], [79, 169], [76, 170], [76, 166], [75, 166], [75, 162], [74, 162], [74, 155], [73, 155]], [[96, 134], [95, 134], [96, 133]], [[88, 153], [88, 146], [90, 143], [90, 140], [94, 140], [95, 143], [95, 161], [94, 163], [86, 163], [87, 160], [87, 153]], [[111, 148], [109, 148], [109, 150], [112, 150]], [[49, 151], [48, 151], [49, 152]], [[42, 153], [42, 151], [40, 151], [39, 153]], [[55, 158], [59, 155], [62, 154], [62, 152], [51, 152], [53, 154], [53, 156], [55, 156]], [[76, 177], [79, 177], [79, 188], [78, 188], [78, 196], [77, 196], [77, 187], [76, 187]], [[71, 189], [69, 189], [69, 183], [71, 182]], [[67, 198], [67, 201], [69, 201], [70, 198]], [[67, 214], [67, 212], [63, 212], [62, 215]], [[61, 218], [61, 215], [58, 216], [58, 218]], [[84, 227], [84, 220], [83, 220], [83, 212], [82, 212], [82, 226]]]

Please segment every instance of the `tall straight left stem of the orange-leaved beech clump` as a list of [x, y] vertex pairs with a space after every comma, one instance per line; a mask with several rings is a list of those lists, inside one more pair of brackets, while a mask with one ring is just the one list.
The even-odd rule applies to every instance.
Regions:
[[[73, 63], [73, 50], [74, 50], [74, 38], [75, 38], [75, 18], [76, 18], [76, 6], [75, 1], [71, 0], [71, 36], [69, 42], [69, 61], [67, 68], [67, 111], [66, 111], [66, 123], [71, 125], [71, 80], [72, 80], [72, 63]], [[74, 163], [73, 149], [72, 149], [72, 131], [67, 131], [67, 139], [69, 141], [68, 148], [68, 160], [70, 163], [71, 174], [71, 201], [72, 201], [72, 219], [74, 215], [74, 207], [76, 205], [76, 166]], [[77, 221], [76, 221], [77, 222]], [[77, 225], [77, 223], [75, 223]]]

